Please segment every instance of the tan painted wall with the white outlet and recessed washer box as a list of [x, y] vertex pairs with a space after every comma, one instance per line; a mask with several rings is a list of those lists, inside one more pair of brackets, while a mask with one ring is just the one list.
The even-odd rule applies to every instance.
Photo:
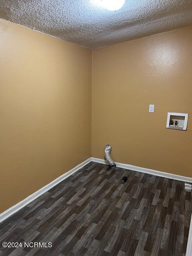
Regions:
[[[187, 131], [167, 112], [188, 113]], [[192, 177], [192, 26], [93, 50], [92, 156], [106, 144], [116, 162]]]

